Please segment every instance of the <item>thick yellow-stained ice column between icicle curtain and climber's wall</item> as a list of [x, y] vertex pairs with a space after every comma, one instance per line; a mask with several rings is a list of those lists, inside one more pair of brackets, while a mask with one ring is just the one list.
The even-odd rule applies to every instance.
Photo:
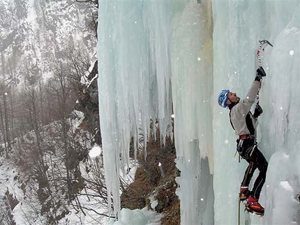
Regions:
[[212, 26], [209, 1], [186, 3], [174, 23], [174, 139], [184, 225], [213, 224]]

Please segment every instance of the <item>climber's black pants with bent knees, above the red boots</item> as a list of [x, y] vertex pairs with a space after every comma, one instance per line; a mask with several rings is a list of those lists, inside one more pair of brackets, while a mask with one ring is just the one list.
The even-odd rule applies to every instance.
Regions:
[[260, 192], [262, 191], [262, 186], [266, 180], [268, 162], [264, 155], [262, 155], [262, 152], [257, 148], [257, 143], [252, 137], [238, 140], [237, 151], [239, 152], [239, 155], [249, 163], [245, 175], [243, 176], [241, 187], [249, 186], [255, 169], [260, 171], [253, 185], [252, 192], [250, 192], [250, 194], [258, 200], [260, 199]]

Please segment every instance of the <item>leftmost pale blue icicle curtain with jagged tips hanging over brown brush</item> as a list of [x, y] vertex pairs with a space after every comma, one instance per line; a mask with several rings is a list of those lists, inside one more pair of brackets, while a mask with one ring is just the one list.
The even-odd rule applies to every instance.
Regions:
[[128, 164], [130, 138], [137, 146], [142, 128], [147, 140], [156, 119], [163, 137], [172, 132], [168, 8], [162, 1], [100, 1], [99, 114], [114, 215], [119, 215], [119, 171]]

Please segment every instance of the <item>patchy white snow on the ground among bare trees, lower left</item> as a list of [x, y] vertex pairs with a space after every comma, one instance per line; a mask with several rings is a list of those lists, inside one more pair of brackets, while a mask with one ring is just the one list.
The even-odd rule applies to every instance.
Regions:
[[[75, 130], [81, 125], [84, 114], [80, 111], [73, 111], [72, 120], [69, 120], [70, 124], [70, 134], [74, 133]], [[55, 128], [57, 127], [57, 122], [52, 123], [50, 125], [45, 126], [45, 130], [49, 132], [55, 132]], [[71, 131], [72, 130], [72, 131]], [[98, 182], [104, 183], [104, 178], [100, 176], [95, 176], [94, 173], [91, 173], [91, 170], [99, 169], [100, 172], [103, 173], [103, 162], [101, 155], [100, 146], [94, 145], [91, 146], [91, 141], [87, 141], [87, 139], [92, 139], [91, 134], [88, 132], [77, 130], [77, 135], [75, 138], [76, 141], [79, 141], [82, 146], [86, 146], [89, 148], [90, 157], [85, 162], [80, 162], [80, 171], [82, 173], [82, 177], [87, 180], [95, 180]], [[33, 132], [29, 132], [29, 134], [25, 135], [25, 141], [30, 143], [31, 137], [34, 137]], [[85, 138], [84, 138], [85, 137]], [[29, 139], [27, 139], [29, 138]], [[55, 143], [55, 138], [53, 137], [45, 137], [47, 141], [53, 141]], [[64, 171], [64, 164], [61, 162], [61, 158], [59, 155], [59, 149], [56, 150], [56, 154], [46, 155], [45, 162], [49, 162], [50, 158], [52, 160], [52, 165], [56, 164], [57, 166], [51, 167], [54, 173], [61, 173]], [[13, 209], [13, 217], [17, 225], [27, 225], [34, 224], [42, 225], [45, 224], [45, 217], [40, 214], [37, 214], [36, 211], [41, 209], [41, 205], [36, 196], [38, 190], [38, 184], [36, 180], [29, 177], [26, 171], [20, 171], [19, 167], [15, 165], [15, 162], [18, 162], [17, 157], [18, 153], [15, 148], [11, 150], [10, 157], [6, 159], [5, 155], [0, 157], [0, 206], [1, 208], [5, 208], [2, 199], [6, 196], [6, 191], [8, 190], [9, 194], [12, 194], [14, 199], [17, 199], [19, 203]], [[59, 165], [59, 166], [58, 166]], [[121, 173], [122, 180], [126, 185], [129, 185], [133, 182], [135, 171], [137, 169], [137, 163], [134, 160], [130, 161], [129, 168], [126, 168], [126, 173]], [[26, 183], [26, 185], [24, 185]], [[52, 186], [53, 187], [53, 186]], [[84, 188], [82, 192], [78, 196], [77, 201], [80, 202], [80, 205], [84, 209], [84, 213], [81, 210], [75, 210], [72, 205], [68, 206], [68, 210], [70, 211], [66, 217], [59, 221], [60, 225], [82, 225], [82, 224], [107, 224], [109, 221], [108, 217], [108, 208], [107, 204], [103, 202], [103, 200], [99, 197], [99, 193], [96, 189]], [[63, 194], [59, 192], [61, 196]], [[89, 194], [89, 196], [87, 196]], [[121, 192], [120, 192], [121, 194]], [[57, 196], [59, 198], [59, 196]], [[73, 204], [77, 204], [77, 201], [74, 201]], [[146, 210], [141, 211], [146, 217], [152, 218], [150, 212], [146, 212]], [[126, 213], [124, 210], [123, 213]], [[85, 215], [84, 215], [85, 214]], [[1, 213], [0, 213], [1, 215]], [[151, 219], [153, 221], [153, 219]]]

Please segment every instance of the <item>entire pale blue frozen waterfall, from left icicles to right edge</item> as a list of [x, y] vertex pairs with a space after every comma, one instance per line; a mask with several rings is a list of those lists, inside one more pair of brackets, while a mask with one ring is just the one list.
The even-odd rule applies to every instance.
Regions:
[[266, 212], [241, 210], [241, 224], [300, 223], [299, 29], [299, 0], [99, 1], [100, 127], [115, 215], [131, 137], [137, 146], [155, 120], [162, 137], [172, 136], [174, 113], [181, 224], [237, 224], [247, 163], [234, 157], [237, 137], [216, 98], [224, 88], [245, 97], [258, 40], [268, 39], [258, 139], [269, 161]]

